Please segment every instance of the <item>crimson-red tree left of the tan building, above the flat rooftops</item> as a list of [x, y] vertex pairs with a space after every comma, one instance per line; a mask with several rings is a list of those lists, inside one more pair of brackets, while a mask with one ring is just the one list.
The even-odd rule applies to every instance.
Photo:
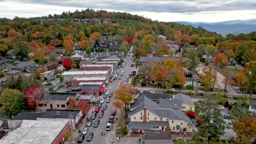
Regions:
[[40, 110], [40, 106], [39, 104], [43, 104], [44, 103], [44, 88], [40, 85], [36, 85], [33, 86], [31, 88], [28, 88], [25, 92], [24, 95], [27, 99], [28, 102], [28, 106], [32, 109], [32, 110], [36, 110], [39, 111]]

